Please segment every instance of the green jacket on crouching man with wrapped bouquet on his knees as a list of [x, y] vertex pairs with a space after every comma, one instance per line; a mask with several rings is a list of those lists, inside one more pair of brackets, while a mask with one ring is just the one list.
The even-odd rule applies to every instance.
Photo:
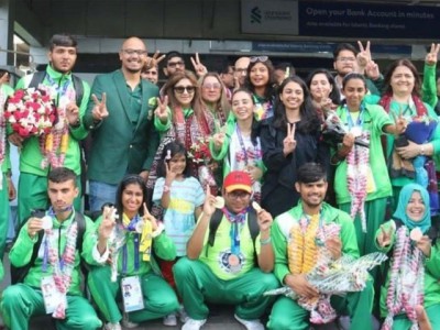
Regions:
[[[301, 217], [304, 217], [304, 211], [301, 200], [299, 200], [296, 207], [276, 217], [274, 224], [272, 226], [271, 237], [275, 253], [274, 274], [283, 284], [284, 277], [290, 274], [287, 256], [287, 248], [290, 241], [290, 230], [295, 223], [299, 222]], [[336, 222], [341, 224], [340, 238], [342, 241], [342, 253], [359, 257], [356, 233], [354, 230], [353, 220], [350, 218], [350, 216], [344, 211], [336, 209], [327, 202], [323, 202], [320, 217], [323, 220], [323, 223]]]

